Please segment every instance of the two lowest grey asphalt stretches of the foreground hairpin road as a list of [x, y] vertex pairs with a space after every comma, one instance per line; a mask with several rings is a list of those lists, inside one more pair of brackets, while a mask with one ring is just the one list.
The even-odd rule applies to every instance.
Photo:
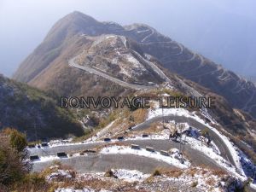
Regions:
[[[111, 143], [116, 143], [113, 141]], [[142, 139], [142, 140], [123, 140], [118, 141], [118, 143], [123, 143], [125, 145], [137, 144], [141, 148], [152, 147], [156, 151], [166, 150], [170, 148], [179, 148], [179, 143], [172, 142], [170, 140], [154, 140], [154, 139]], [[85, 149], [92, 149], [97, 147], [104, 147], [108, 143], [81, 143], [75, 145], [63, 145], [51, 148], [30, 148], [29, 151], [31, 155], [38, 155], [40, 157], [56, 155], [58, 152], [65, 152], [67, 154], [74, 154], [84, 151]], [[201, 151], [190, 148], [189, 145], [183, 146], [186, 151], [186, 155], [189, 160], [191, 160], [192, 166], [207, 166], [215, 169], [221, 169], [218, 164], [203, 154]], [[107, 161], [106, 158], [108, 159]], [[60, 158], [61, 162], [74, 166], [79, 172], [84, 171], [106, 171], [108, 168], [129, 168], [137, 169], [142, 172], [152, 172], [156, 167], [174, 167], [163, 161], [154, 160], [152, 158], [142, 157], [135, 154], [88, 154], [84, 156], [76, 156], [71, 158]], [[85, 161], [86, 162], [83, 162]], [[147, 161], [148, 160], [148, 161]], [[97, 162], [97, 163], [96, 163]], [[35, 162], [33, 166], [34, 172], [39, 172], [49, 166], [52, 161]], [[95, 165], [95, 166], [91, 166]], [[97, 166], [96, 166], [97, 165]], [[143, 166], [142, 166], [143, 165]], [[98, 167], [102, 167], [98, 170]]]

